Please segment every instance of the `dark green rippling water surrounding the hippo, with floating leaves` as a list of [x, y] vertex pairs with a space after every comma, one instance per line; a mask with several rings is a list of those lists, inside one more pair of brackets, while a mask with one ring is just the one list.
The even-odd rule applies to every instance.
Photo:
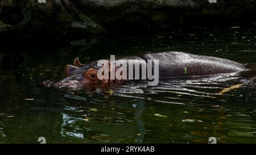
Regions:
[[[104, 36], [0, 49], [0, 143], [256, 143], [251, 78], [170, 79], [110, 92], [40, 85], [64, 78], [66, 64], [146, 52], [183, 51], [256, 65], [256, 25], [139, 36]], [[222, 89], [242, 87], [219, 95]]]

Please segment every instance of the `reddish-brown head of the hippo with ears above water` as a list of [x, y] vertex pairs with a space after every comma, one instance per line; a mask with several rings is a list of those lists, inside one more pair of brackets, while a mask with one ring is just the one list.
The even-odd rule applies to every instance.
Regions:
[[74, 60], [74, 65], [66, 65], [66, 78], [55, 83], [56, 87], [69, 87], [72, 89], [108, 89], [110, 81], [108, 79], [98, 79], [97, 63], [81, 64], [79, 58]]

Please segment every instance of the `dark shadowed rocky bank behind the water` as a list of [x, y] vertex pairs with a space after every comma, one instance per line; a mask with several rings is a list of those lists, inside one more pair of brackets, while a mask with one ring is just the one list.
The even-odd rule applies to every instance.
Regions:
[[226, 20], [256, 22], [255, 14], [254, 0], [1, 0], [0, 35], [90, 35]]

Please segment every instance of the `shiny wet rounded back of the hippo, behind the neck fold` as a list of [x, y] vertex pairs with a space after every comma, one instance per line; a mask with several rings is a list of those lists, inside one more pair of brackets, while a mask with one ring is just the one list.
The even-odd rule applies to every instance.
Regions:
[[146, 60], [159, 60], [159, 77], [206, 76], [244, 70], [238, 62], [184, 52], [162, 52], [143, 55]]

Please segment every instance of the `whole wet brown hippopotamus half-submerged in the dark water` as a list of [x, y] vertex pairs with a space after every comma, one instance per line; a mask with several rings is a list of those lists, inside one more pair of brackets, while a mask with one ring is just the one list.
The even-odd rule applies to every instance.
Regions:
[[[201, 77], [221, 73], [234, 73], [247, 70], [245, 65], [238, 62], [212, 56], [193, 55], [185, 52], [159, 52], [145, 53], [139, 56], [129, 56], [115, 60], [115, 63], [134, 62], [134, 64], [148, 64], [148, 60], [159, 60], [159, 79], [161, 78], [182, 78], [182, 77]], [[73, 87], [94, 89], [109, 89], [119, 86], [121, 80], [100, 79], [98, 71], [102, 66], [97, 65], [98, 61], [90, 64], [81, 64], [79, 58], [74, 60], [73, 65], [66, 65], [66, 77], [54, 84], [56, 87]], [[136, 66], [134, 66], [135, 68]], [[137, 66], [138, 67], [138, 66]], [[152, 68], [154, 64], [152, 65]], [[141, 66], [139, 67], [141, 69]], [[117, 70], [118, 67], [114, 67]], [[140, 74], [141, 76], [141, 74]], [[129, 81], [123, 80], [123, 81]]]

